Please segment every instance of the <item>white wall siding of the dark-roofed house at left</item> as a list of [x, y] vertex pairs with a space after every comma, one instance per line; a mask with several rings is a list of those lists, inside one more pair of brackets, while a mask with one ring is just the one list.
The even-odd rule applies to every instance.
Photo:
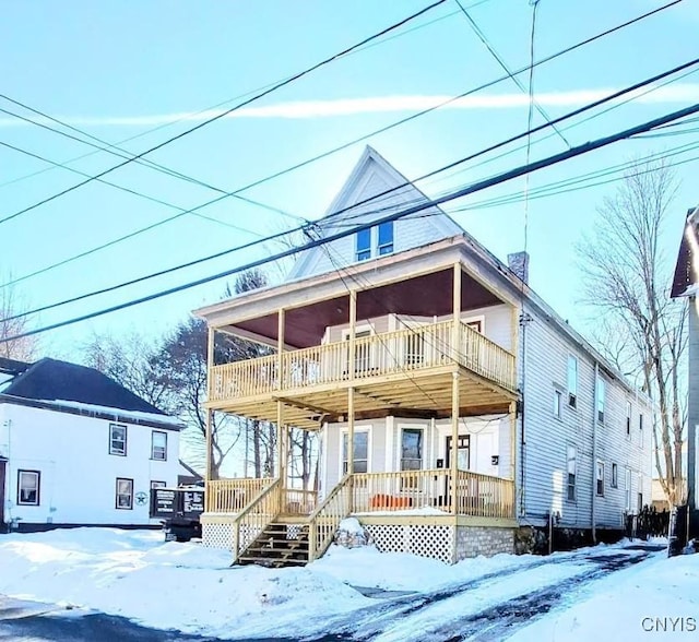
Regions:
[[[0, 454], [8, 457], [4, 519], [25, 524], [138, 524], [149, 502], [117, 510], [117, 477], [133, 479], [134, 496], [150, 496], [151, 482], [177, 485], [179, 433], [167, 432], [167, 460], [151, 459], [151, 433], [127, 426], [127, 455], [109, 454], [109, 424], [69, 413], [0, 404]], [[17, 506], [17, 471], [40, 472], [39, 506]]]

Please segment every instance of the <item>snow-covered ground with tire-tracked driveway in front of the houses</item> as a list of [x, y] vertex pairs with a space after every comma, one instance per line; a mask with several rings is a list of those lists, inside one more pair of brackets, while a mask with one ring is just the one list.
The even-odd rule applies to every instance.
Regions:
[[[165, 544], [158, 532], [75, 528], [0, 536], [0, 594], [234, 639], [315, 638], [341, 630], [381, 640], [439, 640], [450, 627], [467, 639], [478, 634], [473, 623], [478, 614], [561, 587], [562, 604], [507, 634], [520, 642], [639, 640], [650, 626], [644, 618], [653, 618], [655, 629], [654, 618], [685, 618], [685, 628], [688, 618], [699, 619], [699, 556], [668, 560], [657, 554], [608, 578], [576, 584], [611, 554], [641, 555], [601, 546], [449, 567], [374, 548], [332, 548], [306, 568], [271, 570], [229, 568], [226, 552]], [[376, 598], [353, 586], [414, 594]], [[652, 639], [663, 637], [655, 632]]]

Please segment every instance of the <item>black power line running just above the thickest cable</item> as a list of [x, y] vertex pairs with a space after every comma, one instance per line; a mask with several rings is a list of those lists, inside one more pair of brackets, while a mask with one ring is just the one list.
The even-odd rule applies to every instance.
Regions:
[[[619, 96], [621, 96], [621, 95], [629, 94], [629, 93], [633, 93], [633, 92], [636, 92], [639, 87], [642, 87], [642, 86], [645, 86], [645, 85], [652, 84], [652, 83], [654, 83], [656, 80], [659, 80], [660, 78], [665, 78], [665, 76], [667, 76], [667, 75], [672, 75], [673, 73], [676, 73], [678, 70], [685, 69], [685, 68], [687, 68], [687, 67], [690, 67], [690, 66], [694, 66], [694, 64], [697, 64], [697, 63], [699, 63], [699, 58], [695, 59], [694, 61], [690, 61], [690, 62], [687, 62], [687, 63], [685, 63], [685, 64], [682, 64], [682, 66], [679, 66], [679, 67], [677, 67], [677, 68], [674, 68], [674, 69], [672, 69], [672, 70], [668, 70], [668, 71], [666, 71], [666, 72], [663, 72], [662, 74], [656, 74], [656, 75], [654, 75], [654, 76], [651, 76], [650, 79], [647, 79], [647, 80], [644, 80], [644, 81], [641, 81], [641, 82], [639, 82], [639, 83], [636, 83], [636, 84], [633, 84], [633, 85], [630, 85], [629, 87], [627, 87], [627, 88], [625, 88], [625, 90], [620, 90], [620, 91], [618, 91], [618, 92], [615, 92], [614, 94], [611, 94], [611, 95], [606, 96], [605, 98], [601, 98], [600, 100], [595, 100], [594, 103], [591, 103], [591, 104], [589, 104], [589, 105], [585, 105], [585, 106], [583, 106], [583, 107], [580, 107], [580, 108], [578, 108], [578, 109], [576, 109], [576, 110], [573, 110], [573, 111], [571, 111], [571, 112], [569, 112], [569, 114], [566, 114], [566, 115], [564, 115], [564, 116], [559, 117], [559, 118], [557, 119], [557, 121], [558, 121], [558, 122], [562, 122], [564, 120], [567, 120], [567, 119], [569, 119], [569, 118], [572, 118], [572, 117], [574, 117], [574, 116], [578, 116], [579, 114], [582, 114], [582, 112], [584, 112], [584, 111], [588, 111], [588, 110], [590, 110], [590, 109], [593, 109], [593, 108], [595, 108], [595, 107], [599, 107], [600, 105], [603, 105], [603, 104], [605, 104], [605, 103], [612, 102], [612, 100], [614, 100], [614, 99], [618, 98], [618, 97], [619, 97]], [[542, 126], [538, 126], [538, 127], [536, 128], [536, 131], [538, 131], [540, 129], [545, 129], [545, 128], [547, 128], [547, 127], [549, 127], [549, 126], [548, 126], [548, 124], [542, 124]], [[505, 145], [505, 144], [508, 144], [508, 143], [509, 143], [509, 142], [511, 142], [512, 140], [517, 140], [517, 139], [524, 138], [524, 136], [526, 136], [529, 133], [530, 133], [530, 132], [528, 132], [528, 131], [526, 131], [526, 132], [523, 132], [523, 133], [521, 133], [521, 134], [519, 134], [519, 135], [514, 136], [513, 139], [508, 139], [507, 141], [505, 141], [505, 142], [502, 142], [502, 143], [500, 143], [500, 144], [498, 144], [498, 145], [487, 147], [487, 148], [485, 148], [485, 150], [483, 150], [482, 152], [476, 153], [476, 154], [471, 154], [471, 155], [466, 156], [464, 159], [462, 159], [462, 162], [465, 162], [465, 160], [467, 160], [467, 159], [472, 159], [472, 158], [475, 158], [475, 157], [477, 157], [477, 156], [479, 156], [479, 155], [486, 154], [486, 153], [488, 153], [489, 151], [491, 151], [493, 148], [497, 148], [498, 146], [502, 146], [502, 145]], [[458, 163], [459, 163], [459, 162], [458, 162]], [[453, 163], [451, 163], [451, 164], [449, 164], [447, 167], [448, 167], [448, 168], [450, 168], [450, 167], [453, 167], [453, 165], [454, 165], [454, 164], [453, 164]], [[435, 170], [435, 171], [430, 173], [430, 175], [438, 174], [438, 173], [439, 173], [439, 171], [441, 171], [441, 170], [443, 170], [443, 168], [442, 168], [442, 169]], [[486, 180], [487, 180], [487, 179], [486, 179]], [[425, 198], [424, 198], [424, 200], [416, 201], [415, 203], [408, 203], [408, 204], [424, 204], [424, 203], [429, 203], [429, 202], [430, 202], [430, 201], [429, 201], [429, 199], [427, 199], [427, 197], [425, 197]], [[393, 209], [393, 210], [394, 210], [394, 209], [396, 209], [396, 207], [399, 207], [399, 209], [400, 209], [400, 207], [404, 207], [405, 205], [406, 205], [405, 203], [402, 203], [401, 205], [395, 205], [395, 206], [393, 206], [393, 207], [391, 207], [391, 209]], [[429, 206], [429, 205], [427, 205], [427, 206]], [[375, 211], [374, 211], [374, 213], [376, 214], [376, 213], [379, 213], [379, 212], [381, 212], [381, 211], [382, 211], [382, 210], [375, 210]], [[367, 213], [362, 214], [362, 216], [366, 216], [366, 215], [367, 215]], [[197, 260], [194, 260], [194, 261], [190, 261], [190, 262], [188, 262], [188, 263], [183, 263], [183, 264], [180, 264], [180, 265], [176, 265], [176, 266], [174, 266], [174, 268], [169, 268], [169, 269], [166, 269], [166, 270], [162, 270], [162, 271], [156, 272], [156, 273], [154, 273], [154, 274], [149, 274], [149, 275], [146, 275], [146, 276], [142, 276], [142, 277], [139, 277], [139, 278], [135, 278], [135, 280], [132, 280], [132, 281], [129, 281], [129, 282], [126, 282], [126, 283], [121, 283], [121, 284], [118, 284], [118, 285], [114, 285], [114, 286], [110, 286], [110, 287], [107, 287], [107, 288], [103, 288], [103, 289], [99, 289], [99, 290], [94, 292], [94, 293], [88, 293], [88, 294], [80, 295], [80, 296], [78, 296], [78, 297], [69, 298], [69, 299], [66, 299], [66, 300], [62, 300], [62, 301], [59, 301], [59, 302], [56, 302], [56, 304], [50, 304], [50, 305], [48, 305], [48, 306], [44, 306], [44, 307], [42, 307], [42, 308], [37, 308], [37, 309], [31, 310], [31, 311], [28, 311], [28, 312], [25, 312], [24, 314], [21, 314], [21, 316], [27, 316], [27, 314], [34, 314], [34, 313], [37, 313], [37, 312], [43, 312], [43, 311], [46, 311], [46, 310], [49, 310], [49, 309], [57, 308], [57, 307], [59, 307], [59, 306], [63, 306], [63, 305], [68, 305], [68, 304], [72, 304], [72, 302], [75, 302], [75, 301], [79, 301], [79, 300], [83, 300], [83, 299], [88, 298], [88, 297], [91, 297], [91, 296], [96, 296], [96, 295], [100, 295], [100, 294], [106, 294], [106, 293], [109, 293], [109, 292], [114, 292], [114, 290], [116, 290], [116, 289], [120, 289], [120, 288], [122, 288], [122, 287], [127, 287], [127, 286], [129, 286], [129, 285], [134, 285], [134, 284], [137, 284], [137, 283], [141, 283], [141, 282], [147, 281], [147, 280], [150, 280], [150, 278], [155, 278], [155, 277], [157, 277], [157, 276], [163, 276], [163, 275], [165, 275], [165, 274], [169, 274], [169, 273], [176, 272], [176, 271], [178, 271], [178, 270], [182, 270], [182, 269], [185, 269], [185, 268], [191, 268], [191, 266], [197, 265], [197, 264], [199, 264], [199, 263], [203, 263], [203, 262], [206, 262], [206, 261], [210, 261], [210, 260], [213, 260], [213, 259], [218, 259], [218, 258], [222, 258], [222, 257], [224, 257], [224, 255], [226, 255], [226, 254], [233, 253], [233, 252], [235, 252], [235, 251], [249, 249], [249, 248], [251, 248], [251, 247], [253, 247], [253, 246], [257, 246], [257, 245], [260, 245], [260, 243], [263, 243], [263, 242], [269, 242], [269, 241], [272, 241], [272, 240], [276, 240], [276, 239], [280, 239], [280, 238], [282, 238], [282, 237], [284, 237], [284, 236], [287, 236], [287, 235], [289, 235], [289, 234], [294, 234], [294, 233], [298, 233], [298, 231], [304, 231], [304, 230], [308, 229], [309, 227], [317, 226], [318, 224], [324, 224], [324, 225], [327, 225], [328, 219], [332, 218], [333, 216], [334, 216], [334, 214], [331, 214], [331, 215], [329, 215], [329, 216], [325, 216], [325, 218], [321, 219], [320, 222], [313, 222], [313, 223], [310, 223], [310, 224], [308, 224], [308, 225], [303, 225], [303, 226], [296, 227], [296, 228], [294, 228], [294, 229], [289, 229], [289, 230], [281, 231], [281, 233], [277, 233], [277, 234], [275, 234], [275, 235], [272, 235], [272, 236], [268, 237], [266, 239], [261, 239], [261, 240], [257, 240], [257, 241], [251, 241], [251, 242], [246, 243], [246, 245], [244, 245], [244, 246], [237, 246], [237, 247], [234, 247], [234, 248], [229, 248], [229, 249], [227, 249], [227, 250], [224, 250], [224, 251], [221, 251], [221, 252], [216, 252], [216, 253], [214, 253], [214, 254], [210, 254], [210, 255], [208, 255], [208, 257], [203, 257], [203, 258], [201, 258], [201, 259], [197, 259]], [[346, 219], [345, 219], [345, 221], [346, 221]], [[154, 226], [155, 226], [155, 225], [157, 225], [157, 224], [154, 224]], [[327, 226], [327, 227], [334, 227], [334, 226], [335, 226], [335, 225], [331, 224], [330, 226]], [[353, 229], [356, 229], [356, 227], [355, 227], [355, 228], [353, 228]], [[91, 251], [92, 251], [92, 250], [91, 250]], [[46, 269], [45, 269], [45, 270], [46, 270]], [[5, 284], [5, 285], [11, 285], [11, 284], [16, 283], [16, 282], [19, 282], [19, 281], [22, 281], [22, 280], [24, 280], [24, 278], [28, 278], [28, 276], [31, 276], [31, 275], [23, 276], [23, 277], [21, 277], [21, 278], [14, 280], [13, 282], [10, 282], [9, 284]], [[1, 287], [1, 286], [0, 286], [0, 287]], [[5, 319], [5, 320], [10, 320], [10, 318], [9, 318], [9, 319]], [[2, 320], [0, 320], [0, 321], [2, 321]]]

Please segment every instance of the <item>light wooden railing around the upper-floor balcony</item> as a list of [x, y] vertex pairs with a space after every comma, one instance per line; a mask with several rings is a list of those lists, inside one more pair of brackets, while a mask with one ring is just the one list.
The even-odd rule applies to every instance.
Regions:
[[[453, 321], [396, 330], [357, 338], [288, 350], [210, 368], [212, 402], [337, 383], [443, 366], [452, 359], [500, 385], [516, 390], [514, 357], [483, 334], [459, 323], [454, 345]], [[280, 377], [281, 362], [281, 377]]]

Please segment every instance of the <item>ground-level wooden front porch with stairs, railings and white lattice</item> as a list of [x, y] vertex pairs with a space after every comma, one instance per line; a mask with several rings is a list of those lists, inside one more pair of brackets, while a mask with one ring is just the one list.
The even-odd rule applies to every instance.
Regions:
[[507, 542], [516, 525], [513, 482], [470, 471], [457, 471], [453, 480], [445, 468], [347, 474], [320, 503], [315, 491], [285, 488], [279, 478], [210, 480], [204, 542], [229, 548], [234, 561], [292, 544], [294, 557], [285, 561], [306, 563], [325, 551], [347, 516], [357, 518], [381, 550], [447, 562], [469, 556], [473, 528]]

